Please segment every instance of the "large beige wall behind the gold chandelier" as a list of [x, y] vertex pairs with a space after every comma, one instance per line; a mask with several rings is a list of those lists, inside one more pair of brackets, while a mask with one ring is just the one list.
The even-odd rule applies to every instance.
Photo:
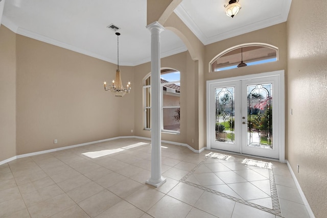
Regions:
[[[115, 64], [20, 35], [16, 54], [17, 155], [133, 129], [134, 114], [126, 109], [130, 105], [133, 111], [133, 94], [116, 98], [103, 89], [115, 76]], [[131, 70], [121, 67], [124, 84], [127, 78], [133, 84]]]

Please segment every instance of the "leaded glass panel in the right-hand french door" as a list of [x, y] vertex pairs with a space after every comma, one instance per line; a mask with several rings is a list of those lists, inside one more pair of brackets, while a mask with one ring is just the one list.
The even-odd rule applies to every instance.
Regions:
[[272, 84], [247, 86], [247, 145], [273, 148]]

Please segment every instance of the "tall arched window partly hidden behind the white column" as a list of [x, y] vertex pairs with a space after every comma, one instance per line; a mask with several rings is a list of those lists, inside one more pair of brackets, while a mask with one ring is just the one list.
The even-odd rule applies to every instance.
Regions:
[[[161, 131], [180, 132], [180, 72], [175, 69], [161, 69]], [[144, 123], [151, 129], [151, 78], [144, 80]]]

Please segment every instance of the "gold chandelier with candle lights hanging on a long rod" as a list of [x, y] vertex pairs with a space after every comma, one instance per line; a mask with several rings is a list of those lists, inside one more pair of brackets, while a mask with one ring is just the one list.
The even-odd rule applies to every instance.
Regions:
[[119, 69], [119, 36], [120, 33], [115, 33], [117, 35], [117, 69], [116, 69], [116, 79], [112, 80], [112, 85], [107, 87], [107, 83], [104, 82], [104, 90], [111, 91], [116, 97], [122, 97], [131, 90], [131, 83], [128, 82], [127, 88], [123, 87], [121, 70]]

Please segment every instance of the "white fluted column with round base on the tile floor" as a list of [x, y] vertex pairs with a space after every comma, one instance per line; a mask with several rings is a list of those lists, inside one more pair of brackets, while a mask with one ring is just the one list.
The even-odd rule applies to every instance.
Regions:
[[160, 128], [160, 32], [165, 30], [158, 22], [147, 26], [151, 32], [151, 177], [146, 183], [158, 187], [166, 182], [161, 176]]

